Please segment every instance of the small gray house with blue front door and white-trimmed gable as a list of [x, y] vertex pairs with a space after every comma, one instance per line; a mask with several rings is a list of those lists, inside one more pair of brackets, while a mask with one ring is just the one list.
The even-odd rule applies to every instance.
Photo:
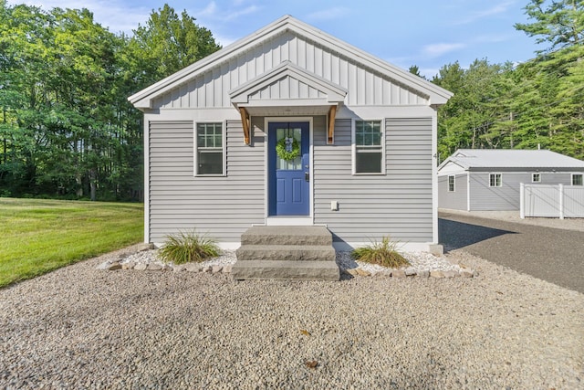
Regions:
[[[438, 242], [437, 108], [452, 96], [283, 16], [129, 98], [144, 112], [145, 241], [328, 227], [336, 249]], [[283, 227], [283, 228], [282, 228]]]

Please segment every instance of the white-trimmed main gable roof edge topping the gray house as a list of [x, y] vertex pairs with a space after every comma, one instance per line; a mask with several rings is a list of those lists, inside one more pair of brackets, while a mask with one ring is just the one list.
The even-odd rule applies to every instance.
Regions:
[[166, 79], [162, 79], [157, 83], [152, 84], [150, 87], [133, 94], [128, 100], [130, 100], [136, 108], [149, 109], [152, 106], [152, 101], [161, 97], [164, 93], [189, 82], [198, 75], [213, 69], [224, 61], [234, 58], [245, 52], [249, 47], [254, 47], [261, 42], [276, 37], [286, 31], [291, 31], [300, 37], [306, 37], [323, 47], [328, 47], [369, 69], [379, 72], [381, 75], [384, 75], [389, 79], [394, 79], [396, 82], [408, 86], [408, 88], [417, 91], [421, 95], [427, 96], [431, 105], [445, 104], [446, 101], [453, 96], [448, 90], [444, 90], [427, 80], [412, 75], [408, 71], [399, 69], [380, 58], [371, 56], [357, 47], [353, 47], [313, 26], [300, 22], [292, 16], [282, 16], [270, 25], [257, 30], [255, 33], [244, 37], [235, 43], [216, 51], [214, 54], [179, 70]]

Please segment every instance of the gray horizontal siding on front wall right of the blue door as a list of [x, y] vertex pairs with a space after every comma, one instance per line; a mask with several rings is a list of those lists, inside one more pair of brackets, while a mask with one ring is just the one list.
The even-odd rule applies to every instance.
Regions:
[[[314, 122], [314, 219], [336, 241], [433, 240], [432, 118], [386, 119], [386, 174], [351, 174], [351, 121], [335, 121], [327, 145], [325, 121]], [[321, 130], [322, 128], [322, 130]], [[339, 211], [330, 201], [339, 201]]]

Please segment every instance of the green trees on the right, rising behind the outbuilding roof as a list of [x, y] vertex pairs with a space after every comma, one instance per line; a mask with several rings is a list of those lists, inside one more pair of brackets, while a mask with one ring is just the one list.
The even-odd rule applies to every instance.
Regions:
[[584, 1], [531, 0], [525, 10], [532, 23], [516, 29], [547, 45], [535, 58], [454, 62], [432, 79], [454, 92], [438, 111], [442, 160], [458, 148], [541, 148], [584, 160]]

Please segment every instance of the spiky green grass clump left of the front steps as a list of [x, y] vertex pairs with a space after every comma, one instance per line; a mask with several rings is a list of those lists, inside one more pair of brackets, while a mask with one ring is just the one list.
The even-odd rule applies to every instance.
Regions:
[[167, 236], [164, 246], [159, 251], [163, 261], [175, 264], [201, 262], [205, 258], [215, 258], [221, 254], [213, 238], [199, 235], [195, 231], [179, 232]]

